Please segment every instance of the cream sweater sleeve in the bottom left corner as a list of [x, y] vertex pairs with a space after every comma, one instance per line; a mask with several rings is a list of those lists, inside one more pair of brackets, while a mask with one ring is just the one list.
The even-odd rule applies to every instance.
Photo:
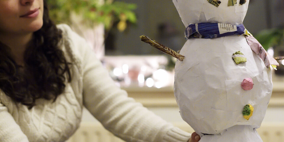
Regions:
[[[1, 91], [1, 90], [0, 90]], [[1, 92], [0, 92], [1, 93]], [[1, 96], [1, 95], [0, 95]], [[28, 142], [27, 136], [14, 121], [0, 100], [0, 141], [1, 142]]]

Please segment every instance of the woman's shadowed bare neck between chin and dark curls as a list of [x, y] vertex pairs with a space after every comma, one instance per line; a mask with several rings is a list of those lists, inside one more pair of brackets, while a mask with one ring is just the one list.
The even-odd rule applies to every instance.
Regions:
[[24, 52], [33, 38], [33, 33], [22, 35], [1, 34], [0, 42], [11, 49], [13, 59], [18, 65], [24, 66]]

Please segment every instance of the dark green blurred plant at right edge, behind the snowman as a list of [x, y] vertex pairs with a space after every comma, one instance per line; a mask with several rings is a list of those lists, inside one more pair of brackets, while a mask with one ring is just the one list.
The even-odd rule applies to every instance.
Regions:
[[274, 28], [262, 30], [255, 36], [255, 38], [259, 41], [263, 48], [267, 50], [269, 47], [284, 44], [284, 29]]

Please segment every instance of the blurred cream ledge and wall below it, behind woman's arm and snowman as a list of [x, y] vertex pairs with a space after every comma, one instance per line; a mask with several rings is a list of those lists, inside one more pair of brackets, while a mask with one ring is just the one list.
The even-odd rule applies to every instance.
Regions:
[[[284, 123], [284, 77], [272, 76], [273, 91], [263, 122]], [[128, 96], [143, 104], [149, 110], [168, 122], [185, 123], [179, 114], [175, 100], [173, 86], [164, 88], [132, 86], [122, 88], [128, 92]], [[97, 122], [93, 116], [84, 109], [83, 122]]]

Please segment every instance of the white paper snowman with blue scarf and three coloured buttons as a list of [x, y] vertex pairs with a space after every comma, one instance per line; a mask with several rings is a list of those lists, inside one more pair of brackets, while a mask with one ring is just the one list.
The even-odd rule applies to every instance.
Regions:
[[279, 65], [242, 22], [249, 0], [173, 0], [186, 27], [175, 66], [180, 114], [200, 142], [262, 142], [256, 128]]

